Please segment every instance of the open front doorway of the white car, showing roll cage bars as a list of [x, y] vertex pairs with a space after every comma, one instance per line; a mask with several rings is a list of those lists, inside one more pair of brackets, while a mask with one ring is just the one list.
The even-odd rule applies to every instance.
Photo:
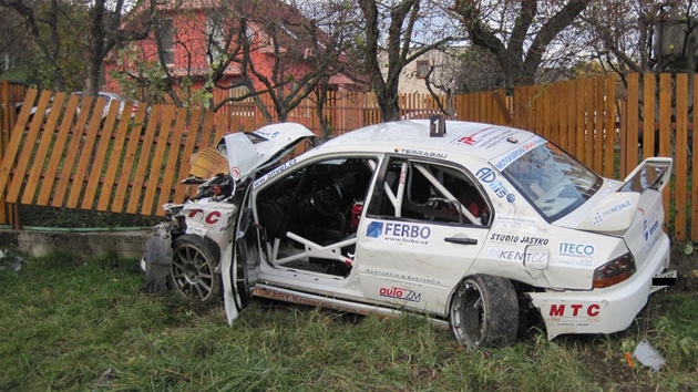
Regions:
[[374, 167], [369, 158], [322, 161], [260, 192], [258, 221], [269, 262], [348, 276]]

